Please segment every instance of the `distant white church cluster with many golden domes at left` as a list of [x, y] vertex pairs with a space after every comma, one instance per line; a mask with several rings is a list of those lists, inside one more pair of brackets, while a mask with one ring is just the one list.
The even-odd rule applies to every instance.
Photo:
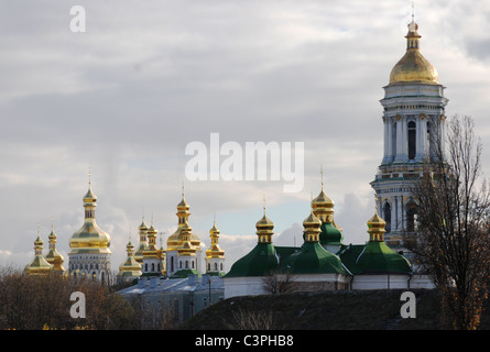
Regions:
[[153, 220], [148, 227], [143, 217], [139, 227], [140, 240], [137, 250], [134, 251], [134, 245], [130, 240], [127, 244], [127, 258], [119, 265], [116, 277], [112, 277], [111, 239], [96, 222], [97, 197], [91, 189], [90, 179], [83, 201], [85, 220], [81, 228], [69, 240], [68, 270], [63, 267], [64, 258], [56, 251], [56, 234], [52, 229], [50, 249], [45, 256], [43, 256], [43, 241], [37, 233], [34, 242], [35, 255], [24, 268], [26, 274], [42, 275], [58, 272], [61, 275], [69, 275], [74, 278], [87, 278], [107, 284], [133, 283], [134, 279], [146, 276], [183, 278], [203, 273], [213, 276], [225, 274], [225, 251], [219, 245], [220, 231], [216, 222], [209, 231], [210, 246], [203, 254], [202, 242], [189, 226], [190, 207], [185, 201], [183, 193], [182, 200], [177, 205], [178, 228], [168, 237], [167, 249], [156, 246], [157, 230], [153, 226]]

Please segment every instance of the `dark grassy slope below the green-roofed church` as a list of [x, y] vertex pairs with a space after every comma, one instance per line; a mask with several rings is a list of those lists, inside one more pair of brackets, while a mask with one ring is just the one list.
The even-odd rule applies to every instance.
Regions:
[[[318, 292], [232, 297], [199, 311], [185, 330], [439, 330], [440, 298], [436, 290], [412, 290], [416, 318], [403, 319], [404, 290]], [[490, 327], [487, 312], [480, 329]], [[239, 320], [254, 318], [252, 324]], [[253, 319], [251, 319], [253, 320]], [[254, 324], [254, 326], [253, 326]]]

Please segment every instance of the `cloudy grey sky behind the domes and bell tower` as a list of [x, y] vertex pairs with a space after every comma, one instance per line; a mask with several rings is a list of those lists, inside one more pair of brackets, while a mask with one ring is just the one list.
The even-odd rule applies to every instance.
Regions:
[[[379, 100], [405, 52], [411, 1], [76, 4], [85, 32], [73, 30], [80, 13], [66, 1], [17, 0], [0, 11], [0, 265], [29, 264], [37, 231], [46, 252], [53, 224], [67, 267], [89, 170], [113, 271], [143, 216], [166, 248], [183, 184], [193, 232], [206, 250], [216, 219], [228, 270], [254, 246], [264, 198], [273, 243], [301, 244], [320, 169], [344, 242], [368, 240], [369, 183], [383, 156]], [[490, 175], [490, 2], [420, 0], [415, 20], [446, 113], [473, 118]], [[284, 177], [189, 179], [185, 150], [210, 150], [211, 133], [243, 150], [303, 143], [302, 189], [285, 193]]]

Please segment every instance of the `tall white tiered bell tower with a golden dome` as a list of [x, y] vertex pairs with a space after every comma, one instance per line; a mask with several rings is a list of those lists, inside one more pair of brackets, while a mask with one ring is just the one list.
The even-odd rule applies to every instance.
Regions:
[[415, 182], [423, 176], [423, 164], [436, 157], [444, 143], [445, 87], [435, 67], [421, 53], [418, 25], [412, 15], [406, 34], [405, 55], [383, 87], [384, 153], [371, 187], [378, 209], [385, 220], [385, 242], [402, 246], [402, 234], [413, 232], [417, 200], [412, 196]]

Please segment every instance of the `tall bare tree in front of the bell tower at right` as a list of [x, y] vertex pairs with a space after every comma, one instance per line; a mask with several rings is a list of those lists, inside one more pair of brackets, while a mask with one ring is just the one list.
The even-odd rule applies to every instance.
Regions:
[[440, 290], [444, 322], [472, 330], [490, 275], [490, 193], [480, 169], [482, 145], [472, 119], [456, 116], [447, 123], [447, 135], [431, 146], [424, 177], [413, 189], [417, 228], [405, 234], [404, 243]]

